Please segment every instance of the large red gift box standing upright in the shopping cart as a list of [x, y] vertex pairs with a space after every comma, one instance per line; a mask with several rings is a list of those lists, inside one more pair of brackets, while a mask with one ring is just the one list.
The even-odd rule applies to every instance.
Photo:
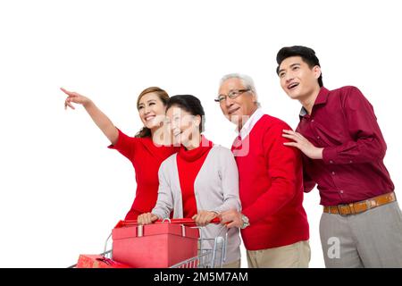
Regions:
[[138, 268], [164, 268], [197, 257], [197, 229], [177, 223], [121, 221], [112, 231], [113, 259]]

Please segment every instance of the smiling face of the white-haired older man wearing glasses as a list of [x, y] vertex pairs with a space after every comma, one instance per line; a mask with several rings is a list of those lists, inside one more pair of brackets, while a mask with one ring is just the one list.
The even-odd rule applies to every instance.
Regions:
[[255, 112], [257, 108], [255, 94], [250, 90], [241, 93], [236, 98], [227, 97], [230, 91], [247, 89], [244, 86], [243, 81], [239, 78], [230, 78], [222, 82], [221, 88], [219, 88], [219, 95], [225, 97], [219, 104], [221, 106], [222, 113], [230, 120], [241, 128], [243, 117], [247, 118]]

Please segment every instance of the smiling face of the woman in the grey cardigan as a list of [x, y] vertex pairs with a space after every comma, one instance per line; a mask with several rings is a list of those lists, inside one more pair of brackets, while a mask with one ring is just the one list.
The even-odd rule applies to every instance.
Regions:
[[166, 111], [166, 116], [171, 126], [174, 143], [185, 147], [194, 145], [191, 140], [198, 140], [200, 137], [201, 116], [189, 114], [177, 105], [172, 105]]

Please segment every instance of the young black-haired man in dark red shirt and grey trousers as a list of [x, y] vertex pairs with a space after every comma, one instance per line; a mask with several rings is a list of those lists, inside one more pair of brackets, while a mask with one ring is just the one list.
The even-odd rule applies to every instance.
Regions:
[[311, 48], [283, 47], [277, 63], [281, 87], [303, 105], [283, 137], [304, 154], [305, 191], [320, 191], [325, 265], [402, 267], [402, 214], [373, 106], [358, 88], [324, 88]]

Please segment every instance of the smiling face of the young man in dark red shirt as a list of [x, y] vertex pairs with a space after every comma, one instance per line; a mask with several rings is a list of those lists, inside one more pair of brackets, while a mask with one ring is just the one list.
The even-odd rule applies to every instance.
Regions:
[[301, 56], [290, 56], [280, 65], [278, 75], [281, 87], [292, 99], [306, 100], [320, 89], [318, 78], [321, 69], [318, 65], [309, 67]]

